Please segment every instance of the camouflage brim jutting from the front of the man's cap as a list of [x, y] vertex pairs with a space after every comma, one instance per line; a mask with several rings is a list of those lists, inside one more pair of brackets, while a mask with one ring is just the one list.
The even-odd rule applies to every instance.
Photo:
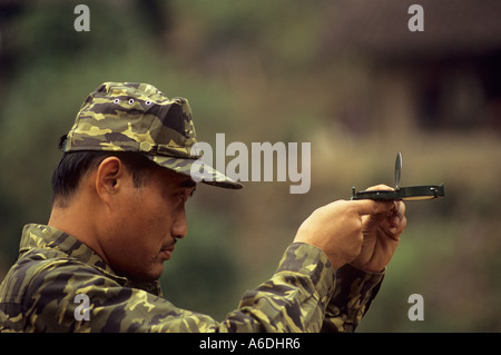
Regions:
[[240, 189], [244, 187], [240, 183], [235, 181], [207, 164], [202, 162], [200, 159], [176, 158], [148, 154], [146, 156], [160, 167], [189, 176], [196, 183], [232, 189]]

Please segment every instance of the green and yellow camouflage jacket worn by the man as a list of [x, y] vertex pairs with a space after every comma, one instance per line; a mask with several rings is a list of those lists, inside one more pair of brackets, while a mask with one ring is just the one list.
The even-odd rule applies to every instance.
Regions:
[[68, 234], [27, 225], [19, 259], [0, 285], [0, 331], [353, 332], [382, 278], [351, 265], [335, 270], [320, 249], [293, 243], [273, 277], [216, 322], [163, 298], [158, 282], [117, 275]]

